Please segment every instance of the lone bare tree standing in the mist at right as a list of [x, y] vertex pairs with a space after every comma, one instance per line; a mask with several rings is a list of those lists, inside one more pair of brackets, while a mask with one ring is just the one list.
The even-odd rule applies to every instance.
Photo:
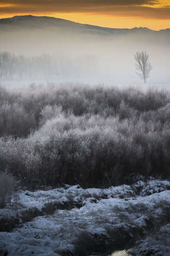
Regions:
[[149, 56], [146, 52], [136, 52], [135, 54], [135, 66], [136, 70], [139, 71], [139, 73], [136, 72], [136, 74], [138, 74], [145, 83], [147, 81], [147, 78], [149, 77], [150, 71], [152, 70], [152, 66], [148, 58]]

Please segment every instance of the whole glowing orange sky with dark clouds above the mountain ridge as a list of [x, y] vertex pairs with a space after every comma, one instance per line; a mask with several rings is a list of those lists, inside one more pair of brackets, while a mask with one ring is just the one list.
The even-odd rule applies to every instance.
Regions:
[[0, 0], [0, 17], [54, 16], [111, 28], [170, 28], [170, 0]]

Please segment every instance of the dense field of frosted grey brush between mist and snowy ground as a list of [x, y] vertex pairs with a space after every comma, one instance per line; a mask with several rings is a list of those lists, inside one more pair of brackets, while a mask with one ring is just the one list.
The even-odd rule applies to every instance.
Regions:
[[32, 84], [1, 88], [0, 104], [1, 169], [31, 188], [169, 177], [168, 91]]

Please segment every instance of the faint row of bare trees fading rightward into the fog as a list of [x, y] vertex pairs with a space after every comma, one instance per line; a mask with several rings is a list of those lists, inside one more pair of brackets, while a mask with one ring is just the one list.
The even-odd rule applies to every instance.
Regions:
[[79, 77], [84, 73], [90, 75], [92, 73], [91, 58], [94, 68], [94, 56], [71, 57], [56, 53], [26, 57], [0, 52], [0, 80], [74, 78], [75, 74]]

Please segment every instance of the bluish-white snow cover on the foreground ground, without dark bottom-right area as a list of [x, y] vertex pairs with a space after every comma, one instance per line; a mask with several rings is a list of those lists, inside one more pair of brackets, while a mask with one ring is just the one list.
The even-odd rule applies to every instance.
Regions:
[[[74, 241], [82, 231], [106, 238], [109, 236], [108, 228], [144, 229], [148, 216], [152, 213], [155, 218], [159, 218], [162, 202], [170, 202], [169, 185], [169, 181], [149, 180], [107, 189], [83, 189], [76, 185], [46, 191], [19, 190], [17, 212], [33, 207], [41, 210], [48, 202], [63, 205], [71, 202], [72, 208], [57, 209], [53, 215], [36, 217], [12, 232], [0, 232], [0, 255], [6, 251], [9, 256], [31, 253], [41, 256], [63, 253], [74, 255]], [[77, 208], [76, 203], [80, 208]], [[1, 216], [13, 216], [14, 213], [16, 215], [16, 211], [10, 208], [0, 210]], [[170, 234], [169, 225], [160, 229], [160, 237], [165, 233]], [[149, 240], [140, 242], [139, 249], [142, 251], [146, 246], [153, 250], [153, 243]], [[156, 250], [160, 251], [160, 246]], [[161, 250], [165, 251], [165, 247], [161, 247]]]

